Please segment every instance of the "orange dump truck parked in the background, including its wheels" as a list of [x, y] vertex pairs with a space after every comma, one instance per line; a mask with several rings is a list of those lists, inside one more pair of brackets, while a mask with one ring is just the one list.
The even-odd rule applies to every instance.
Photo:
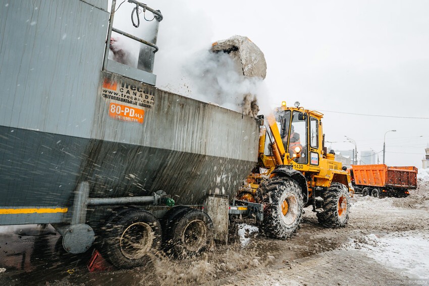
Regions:
[[414, 166], [352, 165], [350, 176], [355, 192], [361, 192], [362, 196], [406, 197], [410, 189], [417, 188]]

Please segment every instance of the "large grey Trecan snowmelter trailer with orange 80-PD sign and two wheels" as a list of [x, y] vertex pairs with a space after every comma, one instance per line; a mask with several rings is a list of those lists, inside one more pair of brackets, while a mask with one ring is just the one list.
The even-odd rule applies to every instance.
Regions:
[[258, 120], [156, 88], [156, 37], [134, 37], [137, 68], [109, 60], [115, 1], [0, 7], [0, 225], [50, 223], [70, 253], [97, 237], [118, 267], [144, 263], [161, 237], [177, 255], [203, 250], [213, 228], [222, 240]]

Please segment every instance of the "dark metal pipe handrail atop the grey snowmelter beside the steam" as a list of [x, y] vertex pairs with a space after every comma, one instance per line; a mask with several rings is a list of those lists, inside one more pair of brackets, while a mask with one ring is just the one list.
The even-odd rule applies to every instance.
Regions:
[[[162, 21], [164, 19], [163, 14], [161, 14], [161, 12], [159, 10], [153, 10], [152, 8], [146, 6], [145, 4], [142, 4], [142, 3], [137, 2], [135, 0], [128, 0], [128, 2], [129, 3], [133, 3], [133, 4], [135, 4], [135, 5], [139, 6], [139, 7], [147, 10], [147, 11], [152, 12], [154, 14], [154, 17], [155, 17], [156, 21], [158, 21], [158, 22], [160, 22], [160, 21]], [[110, 48], [110, 40], [111, 40], [111, 37], [112, 37], [112, 31], [114, 31], [116, 33], [119, 33], [119, 34], [121, 34], [123, 36], [126, 36], [126, 37], [128, 37], [130, 39], [133, 39], [135, 41], [138, 41], [140, 43], [143, 43], [143, 44], [146, 44], [148, 46], [153, 47], [154, 48], [153, 53], [157, 52], [158, 49], [159, 49], [157, 45], [155, 45], [155, 44], [153, 44], [151, 42], [145, 41], [145, 40], [143, 40], [141, 38], [138, 38], [138, 37], [133, 36], [133, 35], [131, 35], [129, 33], [126, 33], [124, 31], [121, 31], [119, 29], [114, 28], [113, 27], [113, 20], [114, 20], [114, 17], [115, 17], [115, 8], [116, 8], [116, 0], [112, 0], [112, 9], [111, 9], [111, 12], [110, 12], [110, 19], [109, 19], [109, 29], [108, 29], [107, 39], [106, 39], [106, 47], [105, 47], [105, 50], [104, 50], [103, 70], [106, 69], [106, 65], [107, 65], [108, 58], [109, 58], [109, 48]]]

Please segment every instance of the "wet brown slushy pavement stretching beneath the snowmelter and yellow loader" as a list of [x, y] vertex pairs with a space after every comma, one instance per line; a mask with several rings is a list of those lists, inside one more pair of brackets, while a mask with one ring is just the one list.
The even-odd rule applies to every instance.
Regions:
[[369, 234], [384, 237], [413, 230], [429, 235], [427, 210], [408, 203], [397, 207], [402, 206], [401, 199], [353, 201], [349, 223], [343, 228], [320, 226], [306, 208], [297, 234], [286, 241], [261, 237], [254, 227], [245, 227], [241, 240], [195, 259], [179, 261], [158, 252], [145, 267], [103, 272], [88, 271], [93, 249], [67, 254], [60, 235], [49, 225], [9, 227], [7, 232], [2, 228], [0, 269], [6, 271], [0, 273], [0, 285], [384, 285], [406, 277], [342, 246]]

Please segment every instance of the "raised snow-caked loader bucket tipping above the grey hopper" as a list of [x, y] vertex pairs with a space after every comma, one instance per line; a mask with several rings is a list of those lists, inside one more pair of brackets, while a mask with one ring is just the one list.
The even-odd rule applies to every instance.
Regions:
[[228, 53], [246, 77], [266, 76], [266, 62], [262, 51], [248, 37], [232, 36], [212, 43], [211, 51]]

